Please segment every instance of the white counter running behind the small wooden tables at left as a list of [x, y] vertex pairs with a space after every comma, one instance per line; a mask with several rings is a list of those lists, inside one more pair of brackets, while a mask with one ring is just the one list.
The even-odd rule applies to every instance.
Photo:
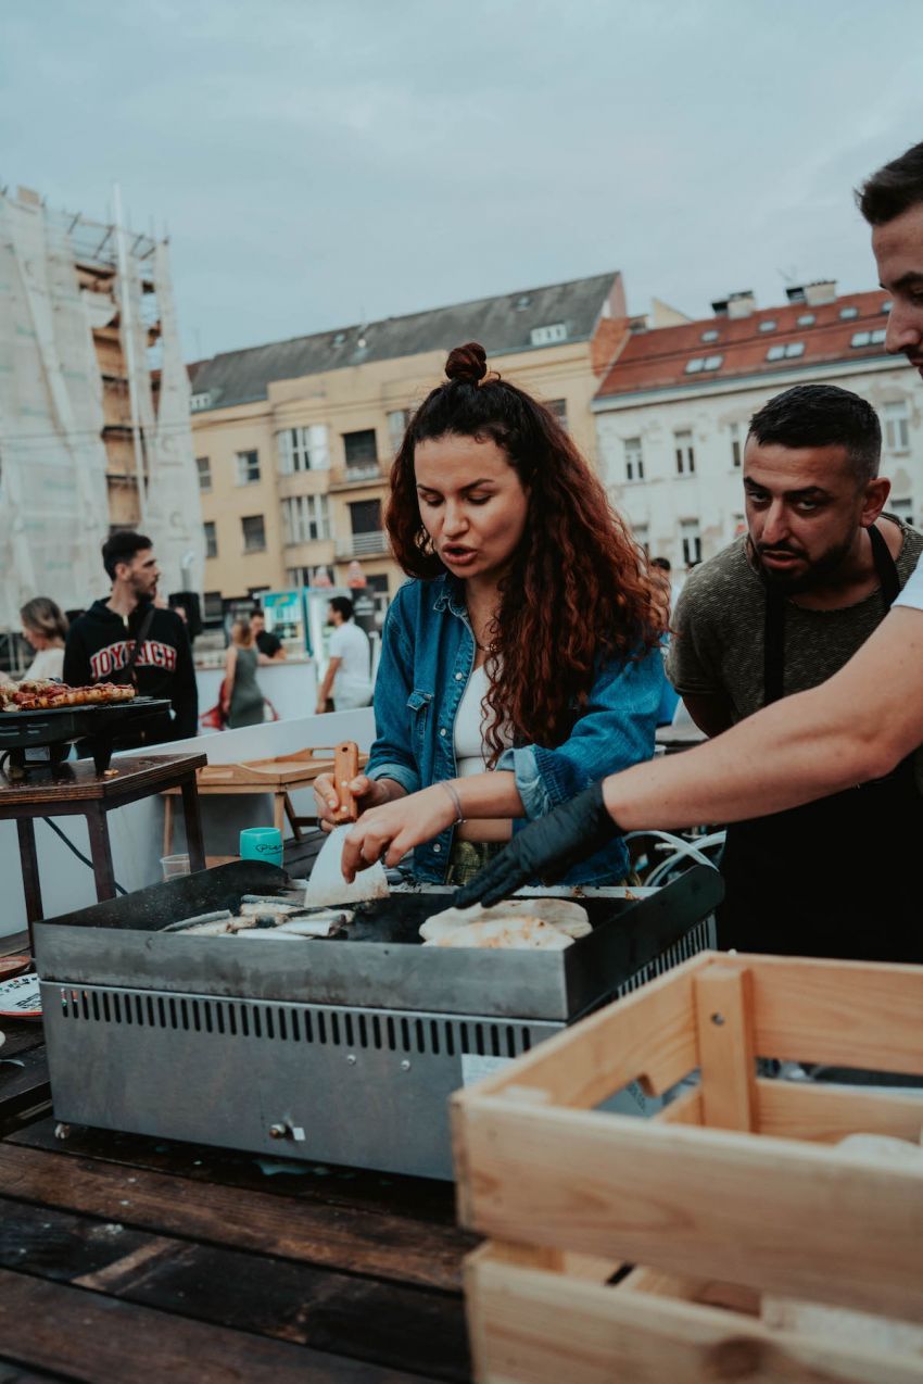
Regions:
[[[285, 674], [300, 671], [306, 664], [280, 664], [260, 673]], [[281, 682], [280, 682], [281, 685]], [[295, 684], [292, 684], [295, 685]], [[266, 682], [270, 686], [268, 678]], [[217, 689], [216, 689], [217, 691]], [[203, 703], [208, 709], [212, 703]], [[309, 702], [314, 704], [314, 695]], [[219, 735], [199, 736], [192, 740], [177, 740], [163, 746], [163, 753], [208, 754], [210, 764], [234, 764], [241, 760], [270, 758], [289, 754], [309, 746], [331, 746], [339, 740], [357, 740], [360, 750], [368, 750], [375, 735], [375, 720], [371, 707], [361, 711], [339, 711], [329, 716], [306, 716], [291, 721], [267, 721], [264, 725], [250, 725], [239, 731], [221, 731]], [[151, 746], [156, 754], [156, 746]], [[295, 810], [307, 815], [313, 807], [310, 790], [292, 794]], [[246, 797], [203, 797], [202, 822], [205, 826], [205, 848], [209, 855], [237, 854], [237, 839], [242, 826], [271, 826], [273, 799], [267, 796]], [[177, 811], [174, 850], [183, 846], [183, 814]], [[61, 817], [57, 825], [68, 835], [77, 850], [90, 854], [86, 818]], [[126, 890], [144, 889], [161, 879], [161, 855], [163, 846], [163, 800], [143, 799], [127, 807], [115, 808], [108, 814], [109, 840], [115, 877]], [[71, 912], [95, 902], [93, 871], [83, 865], [64, 841], [60, 841], [42, 819], [35, 823], [36, 850], [39, 855], [39, 877], [42, 880], [42, 901], [46, 918]], [[22, 873], [19, 869], [19, 846], [15, 822], [0, 822], [0, 937], [17, 933], [26, 926], [25, 900], [22, 894]]]

